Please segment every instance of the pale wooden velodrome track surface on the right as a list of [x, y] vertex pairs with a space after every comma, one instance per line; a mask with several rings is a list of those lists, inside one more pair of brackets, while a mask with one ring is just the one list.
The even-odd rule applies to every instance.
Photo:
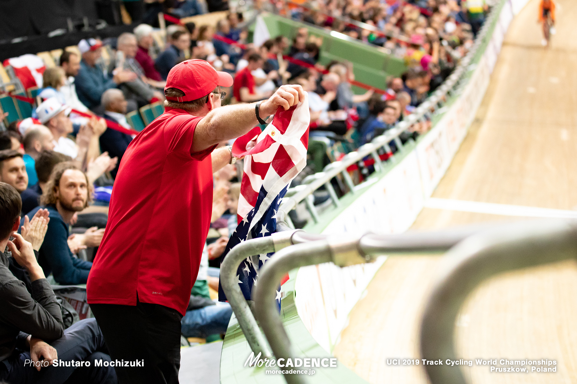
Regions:
[[[538, 0], [512, 21], [477, 119], [433, 197], [577, 209], [577, 1], [557, 0], [557, 34], [541, 46]], [[413, 228], [519, 217], [425, 208]], [[350, 315], [339, 362], [370, 383], [426, 383], [418, 327], [440, 258], [390, 257]], [[563, 263], [493, 278], [457, 323], [464, 359], [557, 360], [556, 373], [464, 370], [477, 383], [577, 383], [577, 266]]]

